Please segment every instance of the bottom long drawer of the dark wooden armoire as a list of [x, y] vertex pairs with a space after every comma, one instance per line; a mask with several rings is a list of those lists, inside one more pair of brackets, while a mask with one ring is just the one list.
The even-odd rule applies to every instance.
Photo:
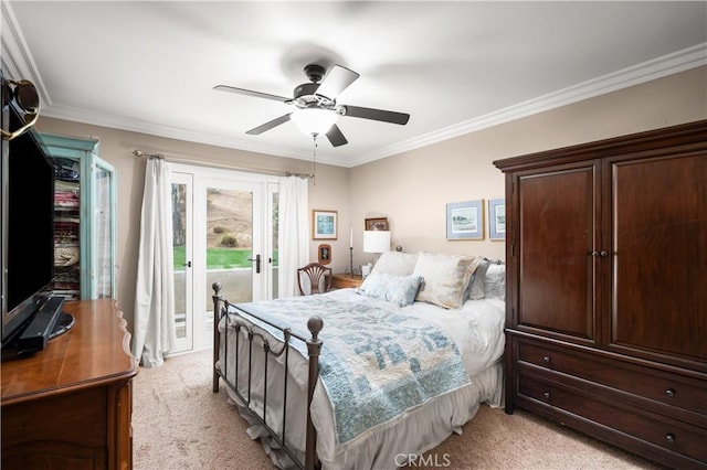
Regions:
[[627, 407], [625, 404], [601, 400], [598, 394], [580, 392], [571, 386], [532, 375], [520, 374], [517, 377], [516, 392], [520, 397], [541, 402], [707, 463], [707, 429]]

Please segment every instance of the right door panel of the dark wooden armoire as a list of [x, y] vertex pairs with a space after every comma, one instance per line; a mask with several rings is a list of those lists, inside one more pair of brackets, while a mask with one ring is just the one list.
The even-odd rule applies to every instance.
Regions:
[[704, 361], [707, 154], [674, 157], [612, 163], [611, 339]]

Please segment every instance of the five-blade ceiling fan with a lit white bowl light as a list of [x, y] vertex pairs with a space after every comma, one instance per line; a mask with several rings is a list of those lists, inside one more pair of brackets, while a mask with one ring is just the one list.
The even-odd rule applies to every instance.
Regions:
[[339, 147], [348, 143], [348, 140], [346, 140], [346, 137], [344, 137], [344, 133], [341, 133], [341, 130], [336, 125], [339, 116], [350, 116], [398, 125], [405, 125], [410, 119], [410, 115], [404, 113], [338, 104], [336, 102], [337, 96], [359, 77], [358, 73], [349, 68], [341, 65], [334, 65], [325, 76], [326, 70], [324, 66], [319, 64], [308, 64], [305, 66], [304, 72], [310, 83], [297, 85], [292, 98], [228, 85], [217, 85], [213, 89], [273, 99], [296, 107], [294, 111], [245, 132], [255, 136], [288, 120], [293, 120], [303, 132], [314, 136], [315, 139], [317, 135], [326, 133], [329, 142], [331, 142], [334, 147]]

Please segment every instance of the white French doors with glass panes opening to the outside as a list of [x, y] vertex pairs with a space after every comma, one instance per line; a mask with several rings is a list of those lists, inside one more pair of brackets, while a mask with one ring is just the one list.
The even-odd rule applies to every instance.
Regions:
[[276, 297], [278, 184], [268, 175], [170, 165], [175, 354], [211, 346], [214, 282], [232, 302]]

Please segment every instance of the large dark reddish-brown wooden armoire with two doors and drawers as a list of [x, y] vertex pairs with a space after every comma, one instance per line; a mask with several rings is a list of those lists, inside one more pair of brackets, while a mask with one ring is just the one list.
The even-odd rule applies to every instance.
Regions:
[[494, 162], [506, 412], [707, 467], [707, 121]]

